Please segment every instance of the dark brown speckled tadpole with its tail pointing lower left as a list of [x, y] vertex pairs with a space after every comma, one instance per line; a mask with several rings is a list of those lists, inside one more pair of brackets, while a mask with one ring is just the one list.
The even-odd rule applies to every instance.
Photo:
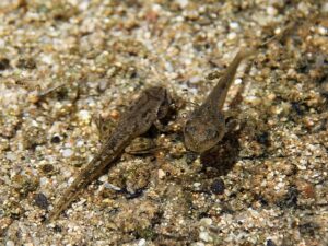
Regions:
[[165, 117], [171, 99], [164, 87], [150, 87], [142, 92], [124, 114], [117, 128], [104, 142], [101, 151], [79, 173], [72, 185], [61, 195], [50, 211], [48, 221], [56, 219], [77, 198], [79, 191], [98, 177], [105, 167], [120, 156], [136, 137], [147, 132], [157, 120]]

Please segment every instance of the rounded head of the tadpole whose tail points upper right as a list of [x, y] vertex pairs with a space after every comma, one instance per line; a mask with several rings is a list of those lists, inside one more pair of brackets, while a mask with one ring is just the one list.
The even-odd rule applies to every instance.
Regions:
[[202, 153], [213, 148], [224, 136], [223, 118], [194, 117], [184, 129], [185, 145], [188, 150]]

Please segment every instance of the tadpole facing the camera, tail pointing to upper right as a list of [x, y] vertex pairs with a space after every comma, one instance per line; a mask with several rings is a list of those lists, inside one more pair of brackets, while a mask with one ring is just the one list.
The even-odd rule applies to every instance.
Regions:
[[227, 91], [242, 60], [255, 52], [255, 49], [239, 51], [202, 105], [191, 113], [184, 129], [187, 149], [202, 153], [213, 148], [223, 138], [225, 118], [222, 108]]

